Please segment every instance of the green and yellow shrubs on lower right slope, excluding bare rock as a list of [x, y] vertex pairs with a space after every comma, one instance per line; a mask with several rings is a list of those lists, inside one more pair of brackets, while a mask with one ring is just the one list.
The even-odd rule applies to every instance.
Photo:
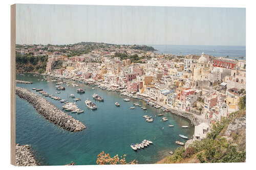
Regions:
[[[180, 163], [191, 157], [196, 158], [201, 163], [244, 162], [246, 159], [245, 150], [238, 151], [236, 144], [222, 136], [223, 131], [232, 120], [241, 114], [245, 114], [245, 111], [233, 112], [228, 117], [223, 118], [220, 123], [212, 126], [211, 132], [207, 134], [206, 138], [194, 141], [186, 149], [184, 147], [177, 148], [174, 155], [167, 157], [165, 163]], [[237, 138], [237, 134], [233, 135], [233, 140]]]

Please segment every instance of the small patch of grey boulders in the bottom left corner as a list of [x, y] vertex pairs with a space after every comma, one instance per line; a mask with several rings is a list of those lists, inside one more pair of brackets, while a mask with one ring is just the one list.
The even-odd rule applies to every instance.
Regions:
[[16, 166], [37, 166], [31, 147], [28, 144], [16, 144], [15, 149], [15, 165]]

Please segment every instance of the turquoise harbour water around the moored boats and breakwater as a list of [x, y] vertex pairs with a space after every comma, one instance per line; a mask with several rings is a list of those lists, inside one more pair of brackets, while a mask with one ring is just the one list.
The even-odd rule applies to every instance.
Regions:
[[[65, 131], [48, 122], [34, 110], [32, 105], [16, 96], [16, 143], [30, 144], [35, 151], [36, 159], [42, 165], [63, 165], [71, 161], [77, 165], [96, 164], [97, 155], [102, 151], [111, 156], [126, 154], [127, 161], [136, 159], [138, 163], [155, 163], [167, 156], [169, 151], [174, 151], [178, 147], [175, 140], [186, 141], [180, 138], [179, 134], [190, 137], [194, 133], [194, 127], [181, 128], [182, 125], [189, 126], [187, 119], [164, 112], [168, 121], [162, 122], [160, 121], [162, 116], [157, 116], [162, 111], [141, 100], [131, 99], [131, 102], [124, 102], [124, 96], [117, 92], [101, 90], [97, 87], [93, 87], [95, 88], [93, 90], [91, 86], [69, 80], [64, 81], [78, 84], [79, 88], [86, 89], [86, 93], [77, 94], [78, 87], [65, 85], [66, 90], [56, 94], [56, 82], [38, 81], [37, 79], [42, 79], [42, 77], [38, 78], [33, 75], [16, 75], [17, 80], [34, 82], [16, 85], [28, 89], [42, 88], [47, 93], [60, 96], [62, 99], [67, 99], [67, 94], [75, 94], [76, 98], [82, 99], [77, 104], [84, 110], [84, 113], [67, 113], [87, 127], [81, 132]], [[95, 92], [103, 96], [104, 102], [94, 101], [98, 109], [93, 111], [86, 107], [84, 101], [88, 98], [93, 100], [92, 95]], [[46, 99], [61, 109], [63, 104], [59, 101], [49, 97]], [[72, 99], [69, 98], [69, 100]], [[115, 102], [121, 106], [116, 107]], [[139, 107], [129, 109], [135, 102], [146, 106], [147, 110]], [[154, 122], [145, 122], [144, 114], [154, 117]], [[175, 127], [168, 127], [170, 124]], [[143, 139], [151, 140], [154, 144], [143, 150], [133, 151], [130, 144]]]

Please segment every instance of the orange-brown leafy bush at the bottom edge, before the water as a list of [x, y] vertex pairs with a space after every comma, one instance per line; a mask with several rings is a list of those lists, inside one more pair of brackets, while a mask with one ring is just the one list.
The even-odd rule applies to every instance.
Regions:
[[131, 162], [126, 162], [125, 160], [126, 155], [124, 154], [123, 156], [118, 157], [118, 155], [111, 157], [110, 154], [105, 154], [104, 151], [102, 151], [98, 156], [96, 163], [99, 165], [115, 165], [115, 164], [137, 164], [138, 161], [133, 160]]

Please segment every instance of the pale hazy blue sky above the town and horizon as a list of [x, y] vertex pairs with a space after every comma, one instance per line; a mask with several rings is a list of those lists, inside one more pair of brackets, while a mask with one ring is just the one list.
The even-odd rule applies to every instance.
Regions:
[[245, 8], [16, 5], [16, 44], [245, 45]]

